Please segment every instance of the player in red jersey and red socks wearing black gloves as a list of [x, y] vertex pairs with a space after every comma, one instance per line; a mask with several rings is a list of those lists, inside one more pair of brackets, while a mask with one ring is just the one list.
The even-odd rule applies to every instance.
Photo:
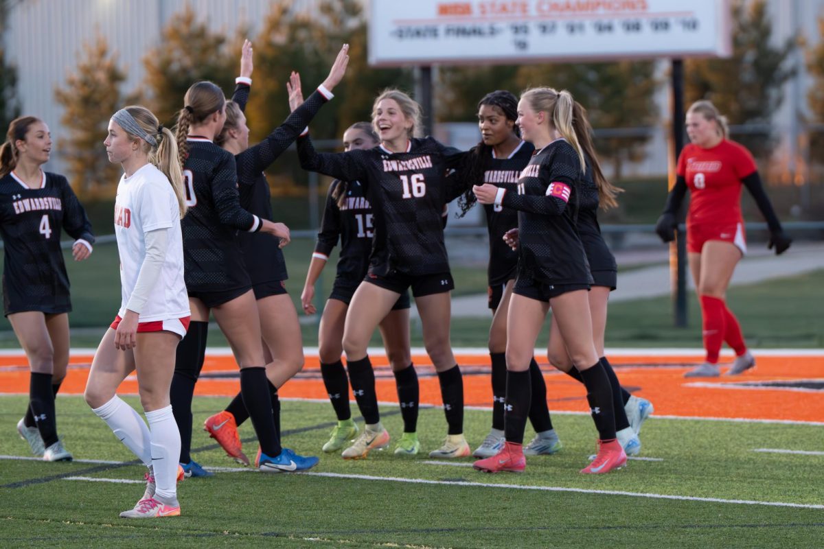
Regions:
[[727, 374], [739, 375], [756, 365], [747, 351], [741, 327], [724, 300], [733, 270], [747, 252], [741, 214], [742, 184], [755, 198], [770, 228], [768, 248], [775, 247], [775, 254], [782, 254], [792, 240], [775, 216], [750, 151], [728, 139], [727, 119], [712, 103], [702, 100], [691, 105], [686, 113], [686, 133], [691, 143], [678, 157], [676, 184], [655, 227], [664, 242], [675, 239], [676, 215], [689, 188], [686, 251], [701, 301], [707, 355], [704, 364], [687, 372], [686, 377], [719, 375], [723, 342], [733, 347], [736, 354]]

